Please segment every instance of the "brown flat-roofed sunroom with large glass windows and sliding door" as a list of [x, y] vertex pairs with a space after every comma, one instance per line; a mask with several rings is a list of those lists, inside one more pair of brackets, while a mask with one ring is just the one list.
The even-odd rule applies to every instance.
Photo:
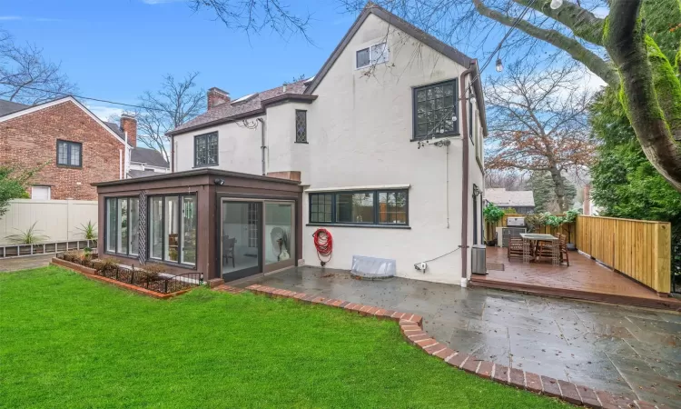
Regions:
[[100, 257], [232, 281], [301, 259], [300, 182], [213, 169], [94, 184]]

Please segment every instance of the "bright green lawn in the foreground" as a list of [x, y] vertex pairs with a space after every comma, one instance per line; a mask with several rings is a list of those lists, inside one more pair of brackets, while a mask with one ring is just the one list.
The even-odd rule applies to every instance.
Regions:
[[253, 294], [160, 301], [0, 274], [4, 407], [562, 407], [451, 368], [398, 325]]

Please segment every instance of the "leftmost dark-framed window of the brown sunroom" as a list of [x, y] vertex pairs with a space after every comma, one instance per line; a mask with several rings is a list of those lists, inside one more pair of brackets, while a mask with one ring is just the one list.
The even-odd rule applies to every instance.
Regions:
[[140, 199], [107, 197], [105, 206], [106, 253], [138, 255], [140, 232]]

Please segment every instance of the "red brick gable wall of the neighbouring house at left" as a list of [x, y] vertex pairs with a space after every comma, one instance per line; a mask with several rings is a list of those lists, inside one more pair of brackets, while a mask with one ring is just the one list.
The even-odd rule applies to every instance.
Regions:
[[[82, 168], [56, 165], [57, 139], [83, 144]], [[0, 165], [47, 163], [31, 185], [51, 185], [56, 200], [97, 200], [90, 184], [119, 178], [122, 149], [123, 143], [71, 101], [0, 122]]]

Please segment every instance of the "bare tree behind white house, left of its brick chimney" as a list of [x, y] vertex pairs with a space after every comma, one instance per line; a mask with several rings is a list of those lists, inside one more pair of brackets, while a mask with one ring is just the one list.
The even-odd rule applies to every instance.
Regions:
[[189, 73], [179, 80], [173, 75], [165, 75], [157, 91], [146, 91], [140, 96], [142, 108], [134, 111], [137, 139], [161, 152], [169, 163], [170, 141], [165, 134], [206, 109], [205, 92], [197, 89], [195, 83], [198, 75], [198, 72]]

